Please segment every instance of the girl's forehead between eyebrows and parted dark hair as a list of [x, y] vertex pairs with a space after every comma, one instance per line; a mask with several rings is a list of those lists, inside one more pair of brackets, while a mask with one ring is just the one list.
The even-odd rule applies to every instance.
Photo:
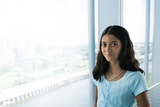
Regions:
[[104, 42], [112, 42], [112, 41], [117, 41], [117, 42], [120, 42], [120, 40], [114, 36], [114, 35], [110, 35], [110, 34], [105, 34], [103, 37], [102, 37], [102, 40], [101, 41], [104, 41]]

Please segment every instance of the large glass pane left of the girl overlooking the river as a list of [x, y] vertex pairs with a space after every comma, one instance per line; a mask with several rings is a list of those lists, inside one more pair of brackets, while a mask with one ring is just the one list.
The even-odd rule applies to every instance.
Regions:
[[87, 0], [0, 1], [0, 106], [89, 106], [87, 12]]

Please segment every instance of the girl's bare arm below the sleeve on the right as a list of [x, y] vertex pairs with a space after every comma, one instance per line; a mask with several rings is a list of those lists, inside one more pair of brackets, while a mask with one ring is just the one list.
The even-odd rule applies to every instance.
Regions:
[[151, 107], [147, 91], [136, 96], [137, 107]]

